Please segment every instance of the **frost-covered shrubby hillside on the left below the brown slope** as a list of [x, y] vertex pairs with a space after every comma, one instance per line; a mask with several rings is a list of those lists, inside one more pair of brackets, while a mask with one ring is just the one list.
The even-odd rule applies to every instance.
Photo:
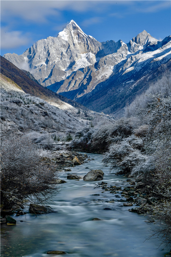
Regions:
[[[74, 108], [74, 107], [73, 107]], [[15, 82], [1, 74], [1, 129], [15, 129], [36, 143], [53, 143], [56, 138], [72, 135], [86, 126], [70, 112], [26, 94]]]

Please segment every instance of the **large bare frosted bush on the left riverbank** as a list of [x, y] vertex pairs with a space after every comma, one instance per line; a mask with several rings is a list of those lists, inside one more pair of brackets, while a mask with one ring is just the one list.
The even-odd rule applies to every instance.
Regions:
[[31, 203], [45, 203], [56, 186], [56, 168], [41, 161], [36, 145], [28, 136], [1, 133], [1, 204], [4, 209]]

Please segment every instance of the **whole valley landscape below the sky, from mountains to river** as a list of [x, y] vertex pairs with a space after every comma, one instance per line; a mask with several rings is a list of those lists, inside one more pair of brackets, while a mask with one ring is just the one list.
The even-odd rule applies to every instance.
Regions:
[[2, 256], [171, 255], [170, 71], [171, 36], [74, 20], [1, 56]]

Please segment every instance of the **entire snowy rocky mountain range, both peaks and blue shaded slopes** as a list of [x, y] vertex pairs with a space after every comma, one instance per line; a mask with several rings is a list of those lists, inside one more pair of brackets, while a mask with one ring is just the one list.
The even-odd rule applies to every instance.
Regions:
[[[137, 81], [167, 63], [170, 43], [170, 36], [158, 41], [145, 30], [127, 44], [100, 43], [72, 20], [57, 37], [37, 41], [23, 55], [4, 57], [54, 92], [91, 107], [94, 98], [109, 103], [109, 95], [111, 100], [125, 88], [132, 90]], [[92, 108], [96, 110], [99, 103]], [[107, 110], [107, 103], [98, 111]]]

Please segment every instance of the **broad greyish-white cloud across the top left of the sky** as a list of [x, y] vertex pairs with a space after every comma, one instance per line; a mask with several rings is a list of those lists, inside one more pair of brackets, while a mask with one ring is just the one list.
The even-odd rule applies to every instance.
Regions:
[[1, 19], [7, 21], [19, 17], [26, 21], [46, 23], [50, 16], [61, 20], [63, 10], [82, 12], [88, 9], [88, 1], [1, 1]]

